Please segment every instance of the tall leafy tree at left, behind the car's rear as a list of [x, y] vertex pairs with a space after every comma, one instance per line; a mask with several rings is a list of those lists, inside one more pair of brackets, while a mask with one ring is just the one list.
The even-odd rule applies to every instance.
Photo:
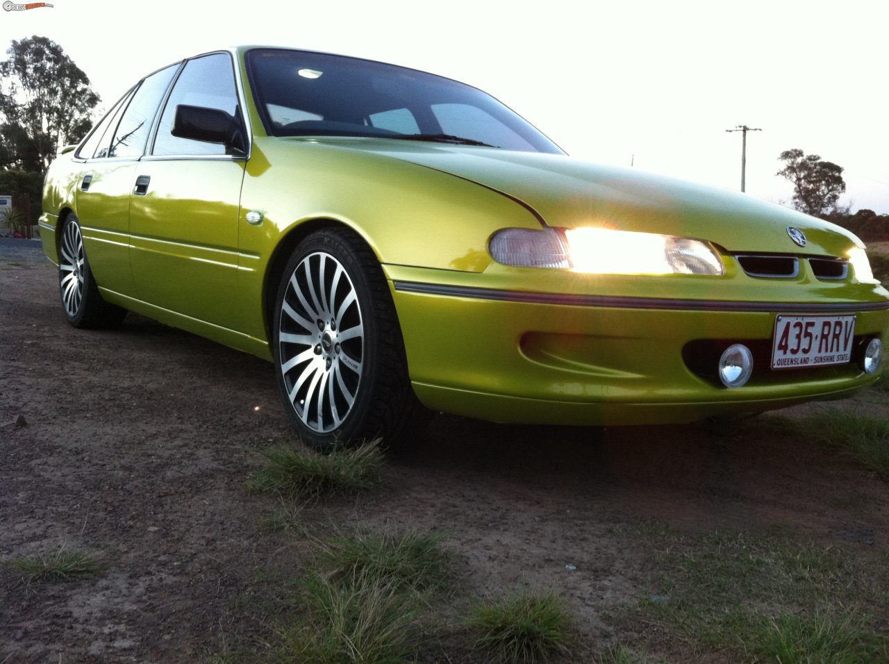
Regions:
[[0, 62], [0, 166], [45, 171], [52, 156], [92, 126], [99, 95], [59, 44], [12, 40]]

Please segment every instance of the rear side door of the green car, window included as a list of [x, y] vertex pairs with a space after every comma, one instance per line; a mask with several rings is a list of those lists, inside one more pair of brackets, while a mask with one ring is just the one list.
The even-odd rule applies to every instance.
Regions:
[[157, 107], [179, 65], [146, 76], [127, 92], [77, 151], [85, 159], [75, 209], [101, 288], [136, 297], [130, 268], [130, 193]]

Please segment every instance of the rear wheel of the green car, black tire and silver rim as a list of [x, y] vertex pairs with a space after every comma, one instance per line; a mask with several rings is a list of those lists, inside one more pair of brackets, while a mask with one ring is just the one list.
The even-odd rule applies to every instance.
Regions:
[[86, 259], [80, 221], [73, 214], [68, 215], [61, 228], [59, 290], [65, 317], [75, 327], [116, 327], [126, 316], [126, 309], [102, 299]]

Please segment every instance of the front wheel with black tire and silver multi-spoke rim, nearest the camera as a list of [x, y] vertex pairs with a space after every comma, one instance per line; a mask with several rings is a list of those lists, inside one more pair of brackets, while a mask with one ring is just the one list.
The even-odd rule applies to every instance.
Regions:
[[278, 388], [302, 440], [321, 451], [376, 436], [393, 444], [418, 421], [388, 284], [355, 233], [306, 237], [284, 268], [273, 319]]

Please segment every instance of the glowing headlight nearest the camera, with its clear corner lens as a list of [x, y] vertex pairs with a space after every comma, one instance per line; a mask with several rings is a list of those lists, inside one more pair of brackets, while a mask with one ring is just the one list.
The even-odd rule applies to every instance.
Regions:
[[713, 247], [701, 240], [611, 228], [504, 228], [491, 238], [504, 265], [570, 268], [608, 275], [722, 275]]

